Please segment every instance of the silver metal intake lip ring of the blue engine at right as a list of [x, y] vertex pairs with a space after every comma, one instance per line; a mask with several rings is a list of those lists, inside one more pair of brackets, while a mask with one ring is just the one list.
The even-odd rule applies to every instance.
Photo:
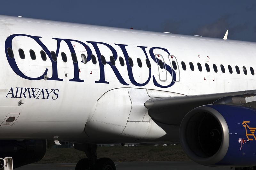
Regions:
[[[183, 150], [186, 152], [186, 154], [190, 159], [202, 165], [214, 165], [218, 163], [226, 155], [228, 151], [228, 146], [229, 146], [229, 130], [228, 130], [227, 122], [217, 110], [208, 106], [209, 105], [200, 106], [188, 112], [188, 114], [183, 118], [180, 125], [180, 143]], [[213, 106], [213, 105], [210, 105], [210, 106]], [[222, 132], [222, 141], [220, 144], [220, 148], [214, 155], [210, 157], [201, 157], [201, 156], [198, 156], [195, 152], [193, 152], [193, 150], [191, 150], [191, 148], [188, 145], [188, 141], [186, 137], [187, 125], [190, 119], [200, 112], [205, 112], [212, 115], [218, 121], [221, 132]]]

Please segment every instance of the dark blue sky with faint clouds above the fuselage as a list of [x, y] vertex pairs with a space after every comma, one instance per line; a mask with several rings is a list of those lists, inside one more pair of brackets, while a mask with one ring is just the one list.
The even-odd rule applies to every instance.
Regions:
[[8, 0], [0, 14], [256, 41], [255, 0]]

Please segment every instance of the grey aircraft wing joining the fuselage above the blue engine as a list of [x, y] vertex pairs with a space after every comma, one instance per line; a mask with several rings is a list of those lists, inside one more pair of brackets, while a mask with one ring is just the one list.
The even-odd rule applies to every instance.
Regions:
[[222, 97], [253, 92], [256, 92], [256, 90], [179, 97], [159, 97], [149, 99], [144, 103], [144, 106], [148, 108], [149, 116], [157, 122], [180, 125], [184, 116], [196, 107], [211, 104]]

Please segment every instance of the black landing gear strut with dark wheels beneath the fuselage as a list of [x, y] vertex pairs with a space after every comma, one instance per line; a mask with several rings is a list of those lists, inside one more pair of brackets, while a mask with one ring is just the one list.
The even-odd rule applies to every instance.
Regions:
[[74, 147], [85, 152], [87, 156], [87, 158], [77, 162], [75, 170], [116, 170], [116, 166], [111, 159], [97, 159], [96, 144], [74, 144]]

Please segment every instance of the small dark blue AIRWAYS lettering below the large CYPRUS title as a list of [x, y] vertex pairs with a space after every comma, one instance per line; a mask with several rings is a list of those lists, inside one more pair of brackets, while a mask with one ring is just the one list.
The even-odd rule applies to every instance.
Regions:
[[29, 99], [52, 99], [59, 98], [59, 89], [41, 89], [41, 88], [25, 88], [15, 87], [9, 90], [6, 98], [29, 98]]

